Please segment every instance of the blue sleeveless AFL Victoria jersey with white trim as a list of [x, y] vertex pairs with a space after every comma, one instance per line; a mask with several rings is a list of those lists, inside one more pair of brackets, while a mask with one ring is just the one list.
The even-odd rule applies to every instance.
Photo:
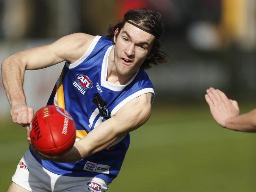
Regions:
[[[106, 37], [96, 36], [85, 54], [75, 63], [65, 63], [47, 105], [67, 110], [76, 124], [76, 140], [86, 137], [132, 99], [153, 93], [146, 72], [140, 68], [127, 85], [106, 81], [108, 56], [113, 44]], [[102, 128], [104, 129], [104, 127]], [[106, 135], [108, 137], [108, 135]], [[111, 183], [121, 169], [130, 135], [118, 139], [107, 149], [73, 163], [39, 159], [44, 168], [59, 175], [99, 177]]]

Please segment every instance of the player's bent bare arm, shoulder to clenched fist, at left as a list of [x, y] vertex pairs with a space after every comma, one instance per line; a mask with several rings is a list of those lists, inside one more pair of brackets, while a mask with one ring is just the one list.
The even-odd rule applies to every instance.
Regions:
[[84, 54], [92, 39], [91, 35], [75, 33], [50, 45], [24, 50], [4, 59], [2, 81], [13, 122], [27, 125], [33, 117], [33, 109], [26, 105], [23, 91], [25, 70], [46, 68], [65, 60], [73, 63]]

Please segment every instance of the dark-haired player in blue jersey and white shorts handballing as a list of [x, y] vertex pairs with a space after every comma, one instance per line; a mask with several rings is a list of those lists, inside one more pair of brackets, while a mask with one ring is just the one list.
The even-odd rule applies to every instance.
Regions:
[[[154, 89], [143, 68], [165, 62], [165, 54], [159, 51], [162, 33], [159, 13], [130, 10], [109, 29], [108, 38], [75, 33], [3, 61], [10, 113], [13, 122], [23, 126], [33, 116], [22, 89], [24, 71], [66, 61], [47, 105], [66, 109], [76, 123], [76, 142], [62, 157], [44, 157], [30, 146], [8, 191], [108, 189], [121, 169], [129, 132], [150, 117]], [[27, 127], [31, 144], [29, 133]]]

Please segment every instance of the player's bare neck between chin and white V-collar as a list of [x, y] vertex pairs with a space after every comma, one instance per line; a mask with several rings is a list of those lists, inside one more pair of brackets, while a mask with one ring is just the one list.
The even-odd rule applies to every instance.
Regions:
[[128, 75], [121, 75], [117, 72], [114, 59], [114, 49], [115, 45], [111, 49], [108, 56], [108, 74], [106, 81], [117, 85], [126, 85], [128, 81], [130, 81], [130, 79], [135, 75], [136, 72]]

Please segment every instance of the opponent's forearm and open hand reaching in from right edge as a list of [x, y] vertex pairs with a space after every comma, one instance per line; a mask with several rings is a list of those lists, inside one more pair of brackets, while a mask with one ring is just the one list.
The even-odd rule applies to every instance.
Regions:
[[237, 102], [218, 89], [207, 89], [206, 102], [214, 120], [222, 127], [243, 132], [256, 132], [256, 109], [239, 115]]

